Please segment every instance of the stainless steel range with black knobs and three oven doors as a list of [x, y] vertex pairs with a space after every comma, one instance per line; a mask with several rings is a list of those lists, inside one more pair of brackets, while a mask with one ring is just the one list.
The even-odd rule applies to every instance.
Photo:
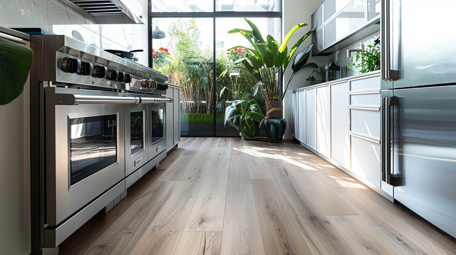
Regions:
[[67, 36], [31, 36], [39, 87], [41, 247], [56, 247], [166, 156], [168, 80]]

